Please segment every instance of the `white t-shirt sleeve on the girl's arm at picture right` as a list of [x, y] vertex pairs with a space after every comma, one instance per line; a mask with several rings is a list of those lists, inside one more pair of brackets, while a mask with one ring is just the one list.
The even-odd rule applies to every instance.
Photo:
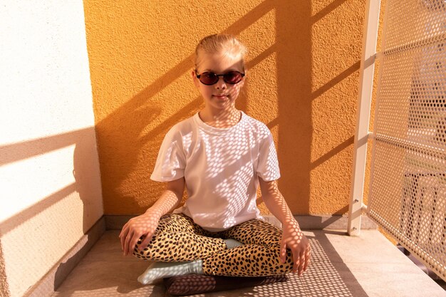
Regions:
[[268, 130], [268, 135], [261, 140], [259, 149], [259, 162], [257, 164], [257, 175], [265, 182], [279, 179], [279, 161], [277, 160], [276, 147], [273, 136]]

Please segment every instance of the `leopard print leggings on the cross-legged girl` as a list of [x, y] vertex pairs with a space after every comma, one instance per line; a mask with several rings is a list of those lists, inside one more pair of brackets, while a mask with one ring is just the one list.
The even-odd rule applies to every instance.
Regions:
[[[215, 276], [272, 276], [291, 271], [291, 251], [282, 264], [282, 231], [260, 219], [251, 219], [221, 232], [209, 232], [185, 214], [166, 214], [144, 251], [133, 254], [150, 261], [181, 262], [202, 259], [203, 271]], [[235, 239], [244, 245], [227, 249], [223, 239]]]

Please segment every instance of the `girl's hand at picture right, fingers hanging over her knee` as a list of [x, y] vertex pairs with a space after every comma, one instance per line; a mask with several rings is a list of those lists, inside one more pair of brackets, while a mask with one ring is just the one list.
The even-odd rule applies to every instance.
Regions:
[[286, 247], [291, 249], [293, 255], [293, 273], [299, 276], [306, 271], [310, 263], [310, 243], [299, 228], [296, 221], [284, 223], [284, 234], [281, 240], [280, 259], [286, 261]]

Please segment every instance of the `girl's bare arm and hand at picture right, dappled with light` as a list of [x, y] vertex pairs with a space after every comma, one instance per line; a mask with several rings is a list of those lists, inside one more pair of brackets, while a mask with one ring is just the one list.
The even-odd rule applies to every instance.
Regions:
[[293, 272], [298, 272], [299, 276], [306, 271], [310, 261], [310, 244], [301, 231], [298, 222], [294, 219], [291, 210], [281, 192], [277, 187], [277, 181], [265, 182], [259, 177], [261, 197], [269, 211], [279, 219], [284, 229], [281, 240], [280, 259], [282, 263], [286, 261], [286, 247], [291, 249], [293, 254]]

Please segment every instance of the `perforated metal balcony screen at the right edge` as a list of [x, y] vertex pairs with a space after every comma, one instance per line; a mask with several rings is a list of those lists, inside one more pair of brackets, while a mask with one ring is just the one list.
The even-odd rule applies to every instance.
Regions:
[[446, 280], [446, 1], [388, 0], [368, 214]]

